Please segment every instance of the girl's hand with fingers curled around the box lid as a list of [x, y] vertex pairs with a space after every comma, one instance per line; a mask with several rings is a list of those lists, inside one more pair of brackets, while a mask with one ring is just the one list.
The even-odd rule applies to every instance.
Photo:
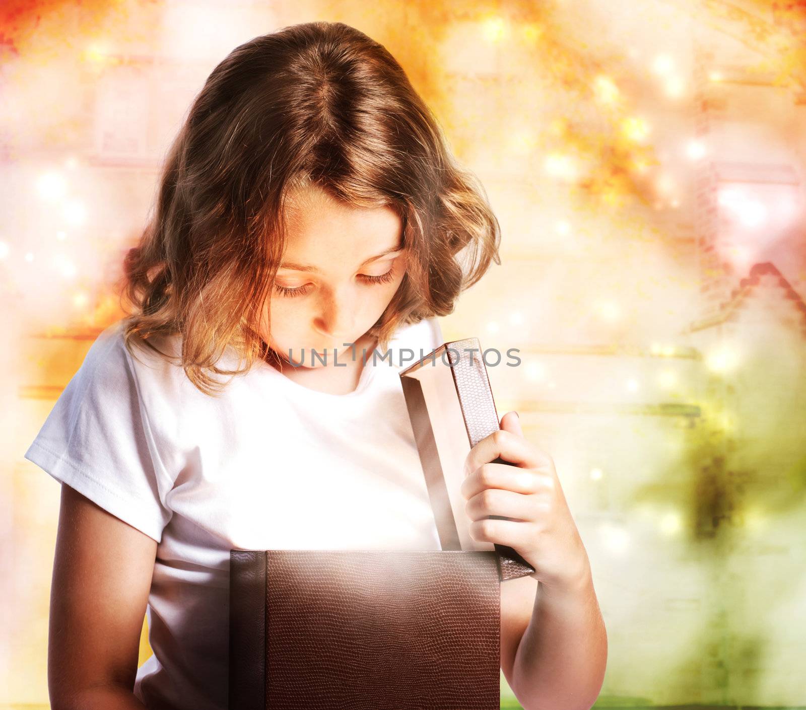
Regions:
[[[514, 463], [492, 463], [498, 457]], [[590, 577], [580, 533], [550, 455], [524, 438], [517, 412], [473, 446], [460, 492], [475, 540], [512, 547], [546, 588], [575, 591]], [[511, 520], [488, 519], [501, 515]]]

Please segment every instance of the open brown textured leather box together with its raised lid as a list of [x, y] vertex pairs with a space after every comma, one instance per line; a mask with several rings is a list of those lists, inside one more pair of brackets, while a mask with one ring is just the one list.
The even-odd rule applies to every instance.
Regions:
[[442, 550], [231, 550], [231, 710], [500, 707], [501, 581], [534, 568], [467, 549], [453, 464], [499, 420], [478, 340], [447, 348], [400, 373]]

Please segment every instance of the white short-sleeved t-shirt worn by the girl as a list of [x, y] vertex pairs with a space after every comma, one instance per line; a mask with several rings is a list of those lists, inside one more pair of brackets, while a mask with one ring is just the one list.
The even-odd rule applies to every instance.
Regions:
[[[368, 354], [348, 394], [258, 360], [209, 397], [160, 355], [135, 347], [132, 358], [122, 323], [89, 348], [25, 458], [159, 543], [154, 654], [135, 695], [148, 708], [222, 710], [231, 548], [441, 549], [399, 372], [442, 332], [436, 318], [401, 326], [392, 363]], [[180, 338], [159, 346], [178, 353]], [[221, 364], [238, 367], [230, 350]]]

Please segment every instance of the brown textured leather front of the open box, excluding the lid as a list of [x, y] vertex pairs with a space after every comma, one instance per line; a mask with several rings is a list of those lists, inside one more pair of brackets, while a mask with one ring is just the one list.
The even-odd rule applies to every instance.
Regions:
[[499, 708], [494, 552], [231, 555], [233, 710]]

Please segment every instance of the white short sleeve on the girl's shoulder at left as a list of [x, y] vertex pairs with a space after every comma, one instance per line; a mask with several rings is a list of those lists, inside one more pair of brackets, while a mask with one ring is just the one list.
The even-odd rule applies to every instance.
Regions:
[[169, 483], [121, 322], [102, 332], [25, 458], [141, 532], [162, 539]]

